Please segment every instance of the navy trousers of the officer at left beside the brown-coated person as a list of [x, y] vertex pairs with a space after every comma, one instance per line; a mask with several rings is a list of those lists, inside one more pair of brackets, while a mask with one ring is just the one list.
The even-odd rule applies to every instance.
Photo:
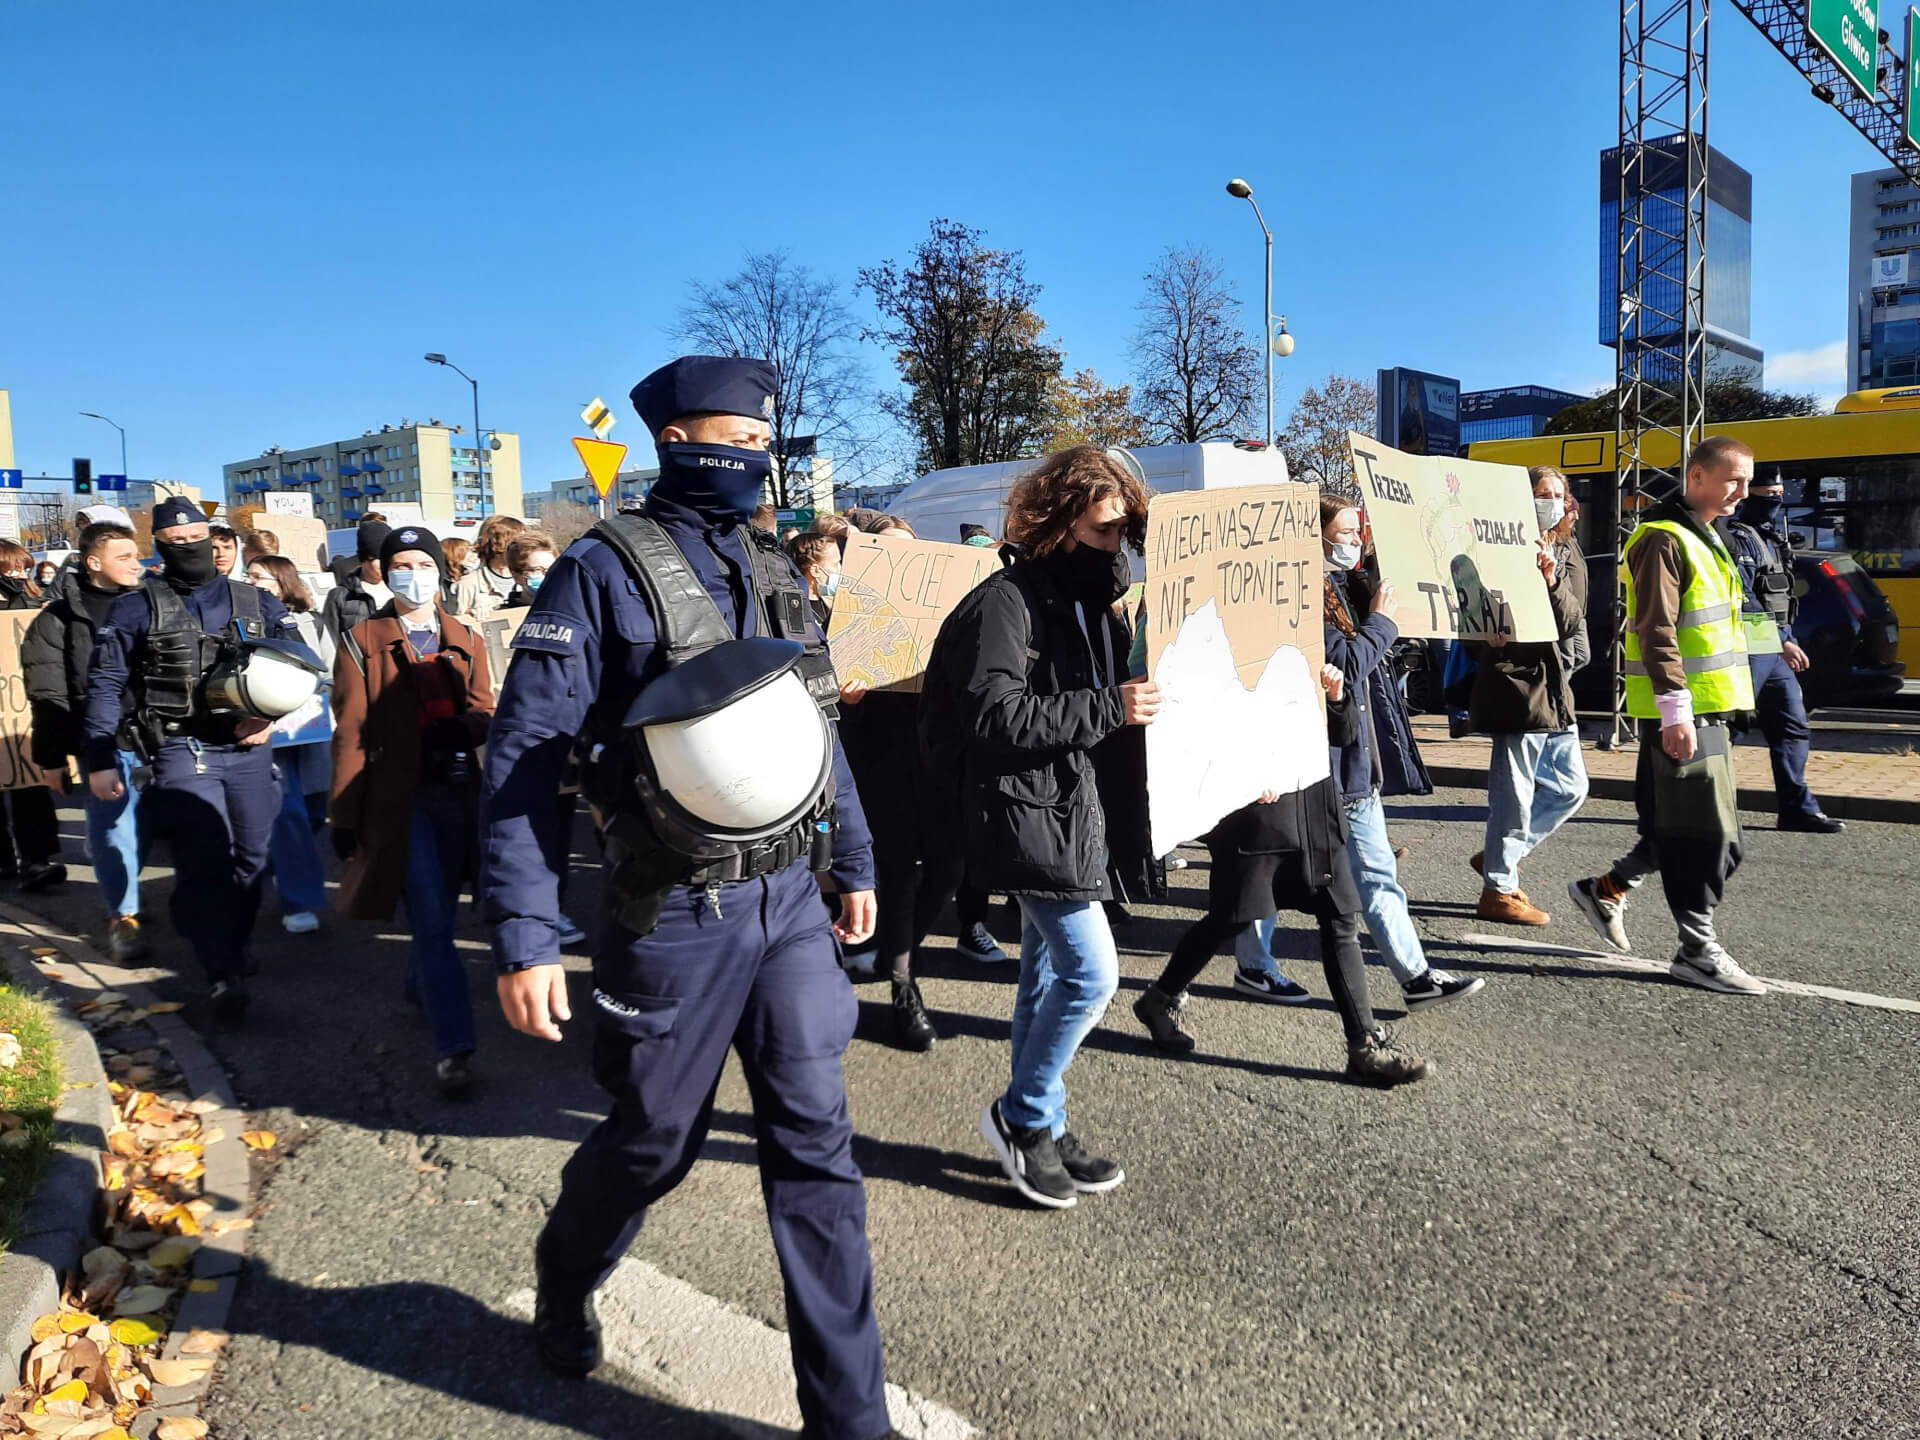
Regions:
[[173, 851], [173, 927], [207, 983], [240, 979], [280, 814], [273, 747], [163, 741], [142, 804]]

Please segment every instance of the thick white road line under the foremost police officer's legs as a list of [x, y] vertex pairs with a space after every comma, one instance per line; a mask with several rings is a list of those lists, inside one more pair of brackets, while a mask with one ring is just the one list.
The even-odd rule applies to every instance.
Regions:
[[[766, 1427], [797, 1430], [787, 1336], [643, 1260], [622, 1260], [599, 1288], [605, 1363], [628, 1371], [674, 1404], [751, 1440]], [[507, 1296], [507, 1313], [534, 1317], [534, 1292]], [[912, 1440], [972, 1440], [972, 1425], [897, 1384], [887, 1415]]]

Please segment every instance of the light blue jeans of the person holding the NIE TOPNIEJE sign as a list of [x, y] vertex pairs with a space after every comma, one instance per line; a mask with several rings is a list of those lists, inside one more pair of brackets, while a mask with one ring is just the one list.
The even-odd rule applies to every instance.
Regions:
[[1020, 916], [1014, 1079], [1000, 1114], [1058, 1137], [1068, 1127], [1068, 1066], [1119, 989], [1119, 952], [1098, 900], [1021, 895]]

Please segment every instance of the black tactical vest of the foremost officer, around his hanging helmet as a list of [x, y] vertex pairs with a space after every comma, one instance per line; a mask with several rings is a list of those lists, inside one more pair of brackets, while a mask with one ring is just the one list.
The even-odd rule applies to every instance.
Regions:
[[[674, 538], [645, 515], [616, 515], [589, 530], [626, 564], [645, 591], [655, 634], [668, 668], [678, 666], [733, 639], [720, 607], [682, 555]], [[808, 624], [806, 595], [793, 578], [780, 541], [751, 526], [737, 530], [747, 553], [753, 595], [760, 605], [760, 634], [804, 645], [801, 680], [820, 712], [839, 716], [839, 680], [826, 643]], [[626, 747], [595, 743], [582, 768], [582, 789], [593, 804], [607, 841], [609, 881], [614, 914], [622, 925], [645, 935], [659, 920], [660, 900], [672, 885], [703, 885], [718, 908], [718, 889], [726, 881], [756, 879], [785, 870], [803, 854], [812, 870], [826, 870], [831, 858], [833, 781], [812, 812], [781, 835], [751, 845], [710, 843], [699, 854], [668, 847], [643, 810], [645, 776]]]

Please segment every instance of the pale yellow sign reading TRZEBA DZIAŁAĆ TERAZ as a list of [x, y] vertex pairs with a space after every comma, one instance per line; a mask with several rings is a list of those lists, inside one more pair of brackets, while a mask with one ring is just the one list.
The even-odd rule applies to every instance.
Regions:
[[1526, 470], [1346, 442], [1380, 576], [1400, 591], [1402, 636], [1559, 639]]

